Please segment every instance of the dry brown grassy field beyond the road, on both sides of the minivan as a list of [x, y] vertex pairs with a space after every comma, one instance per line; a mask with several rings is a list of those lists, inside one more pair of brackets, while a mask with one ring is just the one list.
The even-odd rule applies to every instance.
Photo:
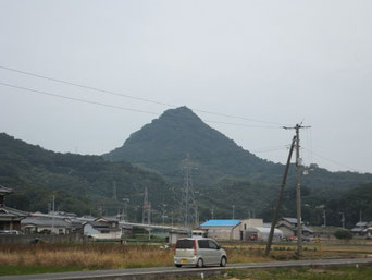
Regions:
[[[262, 244], [222, 245], [228, 263], [298, 259], [296, 245], [290, 243], [274, 245], [270, 257], [264, 256]], [[0, 245], [0, 275], [173, 266], [173, 254], [172, 247], [161, 244]], [[323, 245], [322, 251], [317, 244], [303, 247], [303, 259], [367, 256], [372, 257], [372, 246], [367, 244], [330, 244]]]

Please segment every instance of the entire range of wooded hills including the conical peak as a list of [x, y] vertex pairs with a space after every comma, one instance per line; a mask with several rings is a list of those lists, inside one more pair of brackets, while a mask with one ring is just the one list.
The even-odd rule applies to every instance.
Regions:
[[[173, 215], [174, 222], [178, 222], [183, 211], [183, 167], [188, 158], [200, 220], [212, 215], [232, 218], [234, 206], [235, 218], [256, 215], [268, 221], [284, 172], [283, 165], [243, 149], [186, 107], [165, 111], [103, 157], [54, 153], [1, 133], [0, 184], [15, 190], [7, 204], [22, 210], [46, 211], [55, 195], [59, 210], [115, 215], [122, 210], [121, 199], [125, 197], [129, 198], [131, 220], [139, 221], [147, 186], [153, 221], [161, 221], [166, 205], [165, 215]], [[303, 220], [322, 224], [325, 207], [330, 215], [334, 214], [328, 221], [339, 226], [337, 205], [348, 202], [344, 198], [348, 192], [371, 182], [372, 174], [330, 172], [314, 165], [310, 174], [301, 178]], [[368, 204], [358, 203], [364, 197], [352, 197], [352, 204], [369, 214]], [[293, 166], [281, 215], [296, 215]], [[350, 223], [356, 219], [350, 216]]]

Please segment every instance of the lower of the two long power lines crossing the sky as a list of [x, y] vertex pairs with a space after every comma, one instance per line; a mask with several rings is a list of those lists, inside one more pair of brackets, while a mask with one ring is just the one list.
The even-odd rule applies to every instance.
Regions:
[[[112, 109], [126, 110], [126, 111], [133, 111], [133, 112], [139, 112], [139, 113], [148, 113], [148, 114], [153, 114], [153, 115], [160, 115], [161, 114], [161, 113], [151, 112], [151, 111], [132, 109], [132, 108], [116, 106], [116, 105], [108, 105], [108, 104], [91, 101], [91, 100], [76, 98], [76, 97], [69, 97], [69, 96], [64, 96], [64, 95], [52, 94], [52, 93], [48, 93], [48, 92], [44, 92], [44, 90], [33, 89], [33, 88], [23, 87], [23, 86], [16, 86], [16, 85], [2, 83], [2, 82], [0, 82], [0, 85], [16, 88], [16, 89], [22, 89], [22, 90], [26, 90], [26, 92], [30, 92], [30, 93], [38, 94], [38, 95], [46, 95], [46, 96], [50, 96], [50, 97], [62, 98], [62, 99], [78, 101], [78, 102], [83, 102], [83, 104], [98, 105], [98, 106], [108, 107], [108, 108], [112, 108]], [[185, 118], [185, 117], [172, 117], [172, 115], [166, 115], [166, 118], [189, 119], [189, 118]], [[244, 126], [244, 127], [280, 129], [278, 126], [269, 126], [269, 125], [241, 124], [241, 123], [212, 121], [212, 120], [203, 120], [203, 121], [207, 123], [219, 123], [219, 124]]]

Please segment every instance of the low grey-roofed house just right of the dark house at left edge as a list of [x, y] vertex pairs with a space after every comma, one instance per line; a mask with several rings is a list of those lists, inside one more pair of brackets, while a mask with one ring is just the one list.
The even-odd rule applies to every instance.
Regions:
[[51, 217], [27, 217], [21, 226], [25, 233], [41, 234], [69, 234], [73, 228], [70, 222]]

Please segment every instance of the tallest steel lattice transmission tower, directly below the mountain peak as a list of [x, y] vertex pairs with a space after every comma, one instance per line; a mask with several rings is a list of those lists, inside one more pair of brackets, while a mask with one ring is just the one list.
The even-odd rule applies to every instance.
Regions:
[[185, 179], [182, 193], [183, 222], [185, 228], [193, 227], [197, 221], [197, 207], [195, 204], [195, 195], [191, 176], [191, 162], [189, 157], [184, 160]]

